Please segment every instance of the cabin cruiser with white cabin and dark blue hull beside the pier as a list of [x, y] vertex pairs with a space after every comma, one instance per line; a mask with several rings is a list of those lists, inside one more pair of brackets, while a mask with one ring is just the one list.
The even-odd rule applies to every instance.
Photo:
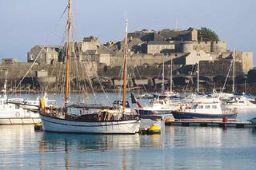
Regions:
[[236, 109], [223, 109], [218, 98], [199, 97], [191, 106], [180, 106], [178, 110], [172, 111], [175, 119], [222, 119], [223, 117], [235, 119]]

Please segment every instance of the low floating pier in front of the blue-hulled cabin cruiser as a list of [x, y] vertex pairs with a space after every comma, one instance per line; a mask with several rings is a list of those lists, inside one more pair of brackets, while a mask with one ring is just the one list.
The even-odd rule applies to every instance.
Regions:
[[165, 125], [175, 126], [201, 126], [201, 127], [221, 127], [221, 128], [256, 128], [250, 122], [222, 122], [222, 121], [166, 121]]

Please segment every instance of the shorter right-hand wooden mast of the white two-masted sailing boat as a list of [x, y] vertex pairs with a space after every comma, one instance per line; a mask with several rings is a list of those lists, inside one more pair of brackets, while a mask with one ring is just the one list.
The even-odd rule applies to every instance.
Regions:
[[124, 61], [123, 61], [123, 71], [122, 71], [122, 113], [126, 113], [126, 77], [127, 77], [127, 55], [128, 55], [128, 20], [126, 19], [126, 35], [125, 35], [125, 45], [124, 45]]

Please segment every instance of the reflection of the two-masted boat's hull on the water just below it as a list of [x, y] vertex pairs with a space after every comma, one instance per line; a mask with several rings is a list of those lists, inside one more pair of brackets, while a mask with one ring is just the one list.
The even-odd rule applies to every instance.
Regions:
[[139, 148], [139, 135], [81, 135], [44, 132], [40, 151], [61, 150], [104, 152], [111, 148]]

